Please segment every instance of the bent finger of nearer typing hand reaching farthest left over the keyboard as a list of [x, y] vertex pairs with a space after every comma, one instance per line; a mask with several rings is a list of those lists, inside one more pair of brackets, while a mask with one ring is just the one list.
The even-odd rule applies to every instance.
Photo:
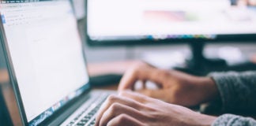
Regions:
[[142, 104], [140, 102], [137, 102], [130, 98], [110, 95], [107, 100], [104, 102], [104, 104], [100, 107], [99, 112], [96, 116], [96, 125], [99, 124], [100, 118], [103, 116], [104, 112], [113, 104], [113, 103], [120, 103], [126, 106], [131, 106], [133, 108], [141, 109]]

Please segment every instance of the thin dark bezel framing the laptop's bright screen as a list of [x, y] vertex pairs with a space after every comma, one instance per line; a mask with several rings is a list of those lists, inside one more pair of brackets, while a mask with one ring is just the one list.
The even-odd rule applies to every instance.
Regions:
[[[71, 6], [70, 1], [69, 0], [66, 0], [66, 1], [68, 1]], [[0, 13], [0, 15], [1, 15], [1, 13]], [[74, 15], [74, 12], [73, 12], [73, 15]], [[22, 102], [21, 93], [20, 93], [18, 83], [17, 83], [17, 77], [16, 77], [16, 74], [15, 74], [15, 71], [13, 68], [13, 61], [12, 61], [10, 53], [9, 53], [9, 46], [8, 46], [8, 42], [6, 39], [6, 32], [5, 32], [4, 26], [2, 24], [2, 17], [0, 17], [0, 31], [2, 33], [2, 34], [0, 34], [0, 39], [1, 39], [1, 44], [3, 47], [4, 57], [6, 58], [7, 70], [9, 72], [9, 80], [13, 87], [13, 92], [14, 92], [15, 98], [17, 100], [19, 114], [21, 115], [21, 123], [22, 123], [22, 125], [28, 125], [31, 123], [31, 121], [28, 122], [25, 111], [24, 111], [24, 106], [23, 106], [24, 104]], [[78, 29], [78, 25], [77, 25], [77, 31], [78, 31], [78, 33], [80, 33], [80, 31]], [[80, 36], [80, 41], [81, 41], [81, 48], [82, 48], [81, 50], [82, 50], [82, 54], [83, 54], [83, 58], [84, 58], [85, 68], [88, 69], [88, 65], [86, 64], [87, 61], [85, 58], [85, 42], [82, 41], [81, 34], [79, 34], [79, 36]], [[88, 72], [88, 70], [87, 70], [87, 72]], [[64, 105], [60, 109], [56, 110], [55, 113], [53, 113], [50, 117], [47, 117], [46, 119], [44, 119], [39, 125], [50, 124], [57, 117], [62, 116], [62, 113], [64, 113], [66, 111], [66, 109], [70, 108], [71, 106], [74, 106], [77, 103], [82, 104], [83, 102], [79, 102], [79, 100], [81, 100], [81, 98], [83, 98], [85, 95], [87, 95], [88, 92], [91, 90], [90, 78], [88, 78], [88, 83], [84, 83], [84, 85], [82, 87], [85, 88], [85, 91], [83, 91], [83, 93], [81, 95], [79, 95], [76, 98], [73, 98], [72, 100], [67, 102], [66, 105]], [[72, 111], [70, 112], [70, 114], [71, 113], [72, 113]], [[68, 117], [68, 115], [66, 115], [66, 117]], [[62, 117], [62, 118], [66, 119], [66, 117]]]

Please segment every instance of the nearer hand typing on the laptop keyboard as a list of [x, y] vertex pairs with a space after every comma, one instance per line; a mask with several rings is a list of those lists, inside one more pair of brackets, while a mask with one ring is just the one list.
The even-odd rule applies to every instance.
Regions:
[[205, 126], [215, 119], [183, 106], [126, 91], [107, 98], [96, 117], [96, 126]]

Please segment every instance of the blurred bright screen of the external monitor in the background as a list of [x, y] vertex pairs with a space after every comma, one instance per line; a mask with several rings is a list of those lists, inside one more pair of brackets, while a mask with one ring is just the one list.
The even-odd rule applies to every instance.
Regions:
[[255, 7], [231, 5], [230, 0], [88, 0], [87, 37], [92, 44], [255, 39]]

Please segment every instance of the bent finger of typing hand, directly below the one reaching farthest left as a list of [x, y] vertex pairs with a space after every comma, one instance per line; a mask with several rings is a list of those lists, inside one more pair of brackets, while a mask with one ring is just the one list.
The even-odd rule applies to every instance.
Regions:
[[114, 117], [117, 117], [121, 115], [122, 113], [125, 113], [127, 115], [133, 116], [140, 120], [145, 120], [146, 116], [138, 111], [137, 109], [134, 109], [130, 106], [125, 106], [119, 103], [112, 104], [107, 111], [104, 113], [104, 115], [100, 119], [100, 126], [105, 126], [107, 123], [113, 119]]

